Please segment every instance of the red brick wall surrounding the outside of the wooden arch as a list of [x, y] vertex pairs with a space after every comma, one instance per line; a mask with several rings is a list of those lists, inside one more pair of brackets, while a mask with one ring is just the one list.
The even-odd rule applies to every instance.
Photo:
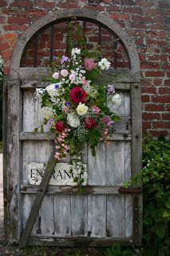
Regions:
[[38, 18], [53, 10], [103, 11], [134, 39], [140, 55], [143, 130], [168, 138], [170, 130], [169, 0], [0, 0], [0, 54], [5, 74], [18, 38]]

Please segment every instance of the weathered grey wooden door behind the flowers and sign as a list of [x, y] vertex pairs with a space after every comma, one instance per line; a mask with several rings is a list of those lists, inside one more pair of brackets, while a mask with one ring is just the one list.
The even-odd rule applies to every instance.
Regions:
[[[85, 15], [85, 14], [84, 14]], [[19, 242], [25, 229], [38, 186], [30, 185], [28, 166], [46, 163], [53, 148], [49, 127], [34, 134], [42, 120], [35, 88], [45, 87], [43, 68], [19, 68], [6, 82], [6, 127], [4, 173], [6, 234]], [[140, 80], [137, 74], [113, 70], [109, 75], [121, 94], [121, 116], [109, 141], [91, 155], [85, 145], [83, 160], [88, 166], [85, 194], [74, 186], [48, 186], [38, 211], [29, 245], [109, 246], [140, 243], [142, 204], [140, 188], [125, 190], [123, 184], [141, 170]], [[69, 158], [65, 160], [69, 162]]]

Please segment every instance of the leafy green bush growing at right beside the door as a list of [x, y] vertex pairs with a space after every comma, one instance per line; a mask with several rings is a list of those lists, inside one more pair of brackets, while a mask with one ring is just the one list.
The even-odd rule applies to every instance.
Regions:
[[[143, 170], [125, 184], [139, 185], [144, 194], [144, 242], [160, 251], [170, 221], [170, 144], [150, 138], [143, 145]], [[152, 254], [156, 255], [156, 254]]]

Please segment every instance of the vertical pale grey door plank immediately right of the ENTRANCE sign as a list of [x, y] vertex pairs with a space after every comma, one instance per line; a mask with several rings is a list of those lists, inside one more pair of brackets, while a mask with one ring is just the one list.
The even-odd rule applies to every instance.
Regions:
[[[96, 157], [88, 151], [89, 185], [106, 185], [105, 143], [97, 146]], [[106, 196], [88, 196], [88, 236], [105, 237]]]

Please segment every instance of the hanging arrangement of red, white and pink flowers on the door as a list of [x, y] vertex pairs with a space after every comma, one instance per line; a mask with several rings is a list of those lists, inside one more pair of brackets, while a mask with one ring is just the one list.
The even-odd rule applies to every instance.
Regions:
[[83, 143], [89, 142], [94, 156], [97, 144], [105, 140], [119, 120], [108, 103], [118, 106], [120, 94], [113, 85], [97, 82], [101, 71], [109, 67], [106, 58], [85, 58], [81, 49], [73, 48], [70, 58], [62, 56], [54, 66], [49, 86], [36, 90], [44, 117], [42, 127], [49, 123], [50, 130], [56, 133], [54, 157], [61, 161], [70, 154], [70, 163], [79, 170], [74, 178], [78, 186], [84, 182], [78, 178], [85, 171], [81, 162]]

